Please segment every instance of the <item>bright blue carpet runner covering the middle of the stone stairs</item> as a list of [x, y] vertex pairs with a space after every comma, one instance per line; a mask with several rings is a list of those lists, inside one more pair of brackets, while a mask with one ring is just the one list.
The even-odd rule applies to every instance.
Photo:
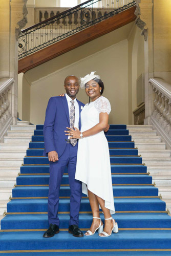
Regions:
[[[68, 233], [70, 187], [66, 169], [60, 187], [60, 233], [42, 238], [49, 227], [49, 161], [42, 157], [42, 129], [43, 125], [36, 125], [7, 214], [1, 221], [0, 255], [171, 255], [171, 218], [126, 125], [110, 125], [106, 136], [116, 209], [113, 217], [119, 232], [109, 238], [99, 238], [98, 232], [83, 238]], [[88, 230], [91, 222], [89, 199], [82, 194], [79, 227]]]

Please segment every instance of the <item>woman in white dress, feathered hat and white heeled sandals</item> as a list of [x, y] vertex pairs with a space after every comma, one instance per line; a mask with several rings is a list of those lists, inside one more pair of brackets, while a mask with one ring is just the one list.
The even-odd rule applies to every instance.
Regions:
[[[118, 225], [111, 217], [115, 207], [109, 146], [103, 131], [108, 126], [111, 105], [101, 96], [104, 85], [94, 73], [81, 78], [80, 87], [91, 99], [81, 111], [81, 131], [67, 127], [69, 131], [65, 132], [70, 138], [79, 139], [75, 179], [82, 181], [82, 193], [89, 196], [93, 212], [92, 225], [85, 235], [91, 236], [98, 229], [100, 237], [108, 237], [112, 231], [118, 232]], [[104, 230], [99, 207], [104, 214]]]

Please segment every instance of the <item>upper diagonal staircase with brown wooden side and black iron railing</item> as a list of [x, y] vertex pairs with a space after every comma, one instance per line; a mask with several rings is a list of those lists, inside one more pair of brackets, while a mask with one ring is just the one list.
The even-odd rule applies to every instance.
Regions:
[[135, 0], [90, 0], [23, 30], [18, 74], [133, 22], [135, 10]]

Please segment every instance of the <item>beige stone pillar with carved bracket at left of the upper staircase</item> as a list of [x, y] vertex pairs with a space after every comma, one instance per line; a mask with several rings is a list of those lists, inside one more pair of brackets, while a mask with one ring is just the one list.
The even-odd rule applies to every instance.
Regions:
[[18, 36], [27, 23], [27, 0], [11, 0], [10, 2], [10, 64], [9, 76], [14, 78], [12, 87], [13, 124], [17, 122], [18, 97]]

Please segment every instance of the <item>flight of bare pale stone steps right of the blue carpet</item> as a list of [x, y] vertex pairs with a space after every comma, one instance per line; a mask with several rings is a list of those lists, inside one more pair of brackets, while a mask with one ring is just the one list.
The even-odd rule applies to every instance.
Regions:
[[152, 125], [127, 125], [127, 129], [147, 165], [147, 172], [153, 176], [159, 194], [166, 202], [166, 208], [171, 212], [170, 150], [166, 150], [165, 142], [161, 142], [161, 137], [157, 136]]

